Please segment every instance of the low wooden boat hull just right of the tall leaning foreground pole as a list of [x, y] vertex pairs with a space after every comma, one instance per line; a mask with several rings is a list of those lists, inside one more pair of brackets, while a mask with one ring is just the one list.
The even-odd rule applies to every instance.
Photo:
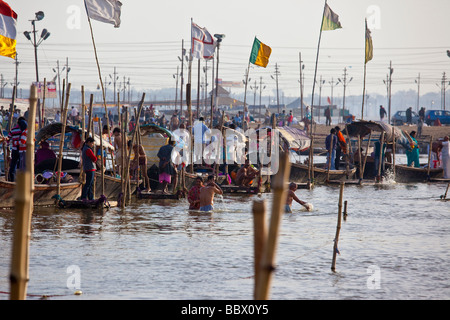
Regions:
[[[328, 170], [324, 165], [314, 165], [314, 183], [323, 184], [327, 181], [345, 181], [353, 179], [356, 173], [356, 168], [347, 170]], [[291, 163], [291, 173], [289, 180], [296, 183], [306, 183], [309, 179], [309, 166], [301, 163]]]

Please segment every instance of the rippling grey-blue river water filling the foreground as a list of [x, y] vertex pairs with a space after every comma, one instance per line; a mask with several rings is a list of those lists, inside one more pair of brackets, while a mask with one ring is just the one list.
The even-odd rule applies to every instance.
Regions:
[[[298, 190], [314, 210], [294, 203], [283, 216], [271, 298], [450, 298], [450, 203], [438, 201], [445, 187], [389, 180], [346, 186], [335, 273], [339, 186]], [[271, 196], [261, 195], [268, 220]], [[51, 299], [251, 299], [257, 198], [216, 197], [213, 213], [189, 211], [186, 200], [138, 201], [124, 211], [40, 209], [32, 219], [28, 292]], [[13, 213], [0, 212], [0, 225], [0, 291], [8, 292]], [[82, 296], [68, 288], [74, 265]]]

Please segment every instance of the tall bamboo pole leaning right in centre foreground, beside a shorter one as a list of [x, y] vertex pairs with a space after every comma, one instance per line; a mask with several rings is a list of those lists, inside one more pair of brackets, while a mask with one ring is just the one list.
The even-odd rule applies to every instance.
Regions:
[[286, 204], [287, 181], [289, 178], [291, 164], [289, 155], [280, 155], [279, 171], [273, 179], [273, 204], [270, 217], [269, 232], [267, 236], [258, 281], [258, 291], [255, 294], [256, 300], [267, 300], [269, 298], [269, 288], [272, 280], [272, 273], [275, 270], [275, 250], [278, 242], [278, 230], [281, 217]]

